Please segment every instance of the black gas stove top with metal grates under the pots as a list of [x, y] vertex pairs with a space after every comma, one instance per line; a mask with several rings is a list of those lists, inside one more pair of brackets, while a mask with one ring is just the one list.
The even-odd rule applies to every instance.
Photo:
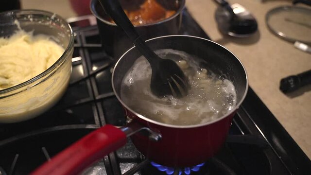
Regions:
[[[97, 26], [73, 27], [76, 38], [69, 88], [51, 110], [21, 122], [0, 124], [0, 175], [32, 172], [74, 141], [107, 123], [126, 123], [111, 87], [115, 60]], [[185, 9], [181, 35], [209, 38]], [[146, 159], [131, 140], [82, 175], [307, 175], [310, 159], [252, 88], [237, 111], [217, 155], [192, 167], [166, 167]]]

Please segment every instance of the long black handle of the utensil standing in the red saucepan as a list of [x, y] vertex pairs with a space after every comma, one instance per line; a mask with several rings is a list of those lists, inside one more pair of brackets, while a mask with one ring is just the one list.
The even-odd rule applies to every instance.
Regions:
[[158, 63], [157, 55], [146, 45], [145, 41], [138, 35], [132, 22], [124, 13], [119, 0], [99, 0], [105, 12], [123, 29], [125, 34], [132, 40], [140, 53], [142, 53], [150, 64]]

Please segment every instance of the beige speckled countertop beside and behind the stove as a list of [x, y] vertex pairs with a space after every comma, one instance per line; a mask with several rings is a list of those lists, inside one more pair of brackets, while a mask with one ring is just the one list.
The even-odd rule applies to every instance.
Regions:
[[[270, 33], [264, 20], [270, 9], [290, 5], [291, 0], [229, 0], [231, 4], [240, 3], [257, 18], [259, 32], [249, 38], [221, 35], [214, 19], [213, 0], [186, 1], [189, 12], [211, 39], [241, 59], [250, 86], [311, 158], [311, 86], [295, 93], [295, 97], [288, 97], [278, 89], [281, 78], [311, 69], [311, 54]], [[75, 16], [66, 0], [21, 0], [21, 4], [23, 8], [49, 10], [64, 18]]]

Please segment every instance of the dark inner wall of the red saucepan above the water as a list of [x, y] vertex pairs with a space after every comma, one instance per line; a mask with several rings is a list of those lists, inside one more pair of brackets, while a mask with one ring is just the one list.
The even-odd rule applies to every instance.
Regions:
[[[243, 101], [248, 88], [247, 74], [240, 60], [225, 47], [204, 38], [186, 35], [161, 36], [148, 40], [147, 44], [153, 50], [174, 49], [200, 58], [200, 67], [222, 75], [234, 84], [237, 106]], [[114, 68], [112, 86], [119, 100], [123, 77], [139, 56], [141, 54], [133, 47], [121, 56]]]

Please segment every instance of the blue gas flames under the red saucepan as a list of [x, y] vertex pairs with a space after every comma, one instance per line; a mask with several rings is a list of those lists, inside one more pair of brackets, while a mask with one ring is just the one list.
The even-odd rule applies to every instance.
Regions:
[[[173, 175], [174, 171], [176, 170], [173, 167], [163, 166], [163, 165], [157, 164], [155, 162], [150, 162], [150, 163], [156, 169], [158, 169], [161, 172], [165, 172], [167, 175]], [[182, 168], [182, 169], [179, 170], [178, 175], [182, 175], [182, 174], [190, 175], [191, 172], [198, 172], [203, 165], [205, 165], [205, 163], [201, 163], [201, 164], [198, 164], [198, 165], [195, 165], [195, 166], [192, 166], [192, 167]]]

